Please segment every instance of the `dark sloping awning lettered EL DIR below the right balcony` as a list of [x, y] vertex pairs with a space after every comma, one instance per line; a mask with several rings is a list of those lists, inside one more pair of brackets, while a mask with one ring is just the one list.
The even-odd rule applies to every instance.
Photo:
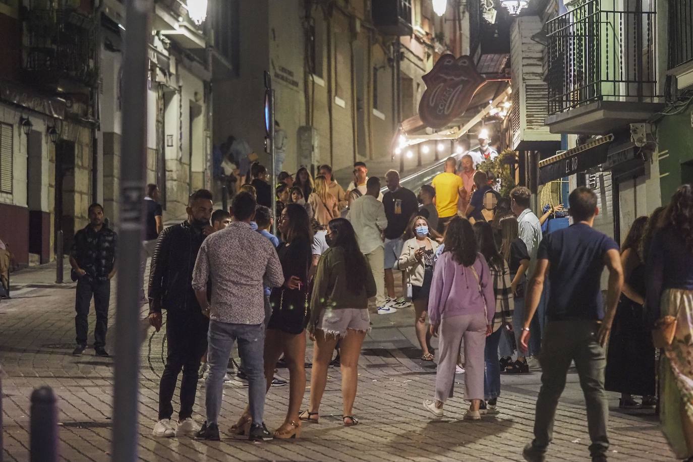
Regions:
[[613, 134], [589, 141], [567, 151], [556, 154], [539, 162], [539, 184], [554, 179], [567, 177], [577, 172], [584, 172], [606, 161], [608, 143], [613, 141]]

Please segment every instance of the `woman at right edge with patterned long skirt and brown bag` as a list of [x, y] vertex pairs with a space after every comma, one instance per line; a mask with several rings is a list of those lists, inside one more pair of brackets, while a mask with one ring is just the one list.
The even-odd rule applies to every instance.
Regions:
[[[652, 218], [650, 218], [652, 220]], [[693, 459], [693, 188], [672, 196], [646, 259], [649, 326], [662, 336], [660, 420], [678, 459]], [[667, 328], [668, 327], [668, 328]]]

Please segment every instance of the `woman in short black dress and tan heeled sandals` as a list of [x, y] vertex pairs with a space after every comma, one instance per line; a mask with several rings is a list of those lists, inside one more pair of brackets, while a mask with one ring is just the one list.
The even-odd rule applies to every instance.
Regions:
[[[274, 438], [296, 438], [301, 433], [299, 411], [306, 391], [306, 325], [310, 319], [308, 271], [310, 269], [313, 229], [306, 209], [288, 204], [281, 212], [277, 228], [282, 240], [277, 247], [286, 282], [270, 294], [272, 316], [265, 332], [265, 379], [270, 389], [274, 366], [284, 354], [289, 369], [289, 409]], [[243, 434], [248, 420], [247, 409], [232, 434]]]

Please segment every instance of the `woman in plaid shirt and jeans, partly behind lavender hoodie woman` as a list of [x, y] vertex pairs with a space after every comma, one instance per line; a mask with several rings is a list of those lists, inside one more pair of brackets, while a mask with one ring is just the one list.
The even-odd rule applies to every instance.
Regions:
[[[498, 362], [498, 344], [500, 336], [506, 331], [505, 326], [512, 326], [513, 309], [511, 307], [511, 279], [510, 270], [505, 259], [498, 253], [493, 237], [493, 228], [488, 222], [476, 222], [474, 224], [474, 234], [479, 242], [479, 251], [486, 258], [491, 270], [491, 281], [493, 281], [493, 294], [495, 294], [495, 304], [493, 305], [493, 331], [486, 337], [484, 348], [484, 362], [486, 370], [484, 373], [484, 400], [481, 411], [485, 414], [496, 414], [498, 396], [500, 396], [500, 362]], [[486, 308], [491, 308], [487, 306]]]

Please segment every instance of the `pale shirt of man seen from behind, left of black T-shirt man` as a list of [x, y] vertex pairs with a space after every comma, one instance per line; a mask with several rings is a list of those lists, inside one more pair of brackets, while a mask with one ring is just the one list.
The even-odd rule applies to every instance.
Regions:
[[387, 228], [383, 202], [373, 196], [362, 195], [351, 203], [347, 220], [356, 231], [358, 247], [363, 254], [370, 254], [378, 247], [384, 247], [383, 240], [380, 238], [381, 230]]

